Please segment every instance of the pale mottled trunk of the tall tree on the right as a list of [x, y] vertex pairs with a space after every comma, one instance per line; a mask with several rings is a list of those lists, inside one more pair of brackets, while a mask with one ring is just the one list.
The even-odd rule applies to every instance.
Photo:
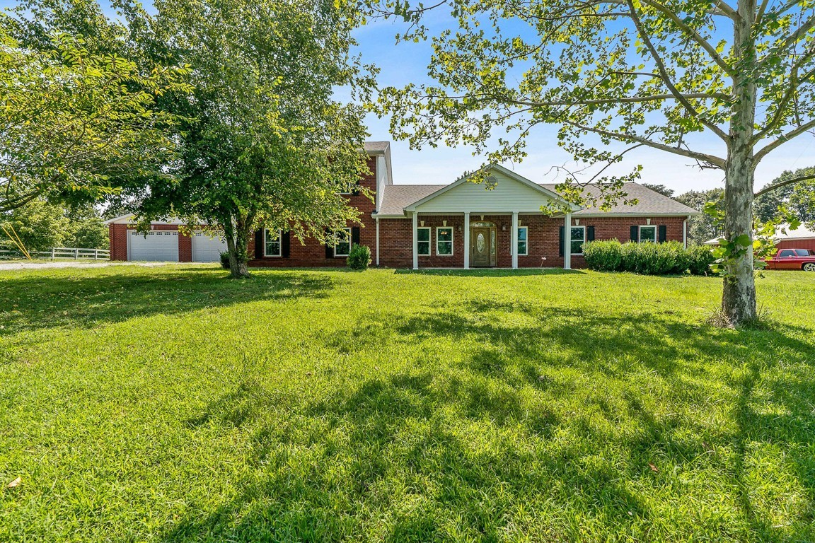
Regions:
[[[725, 238], [734, 241], [747, 234], [749, 246], [728, 266], [721, 309], [734, 326], [756, 318], [756, 277], [753, 272], [753, 127], [756, 121], [756, 84], [752, 69], [756, 47], [751, 36], [755, 0], [738, 2], [742, 20], [734, 24], [734, 45], [740, 57], [733, 89], [736, 103], [730, 119], [727, 168], [725, 169]], [[746, 77], [742, 77], [744, 74]]]

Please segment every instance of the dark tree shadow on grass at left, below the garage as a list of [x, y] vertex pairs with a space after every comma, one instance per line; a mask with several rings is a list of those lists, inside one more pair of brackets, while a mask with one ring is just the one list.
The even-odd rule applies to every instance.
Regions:
[[[188, 313], [260, 300], [328, 296], [325, 274], [256, 274], [233, 281], [212, 268], [150, 269], [92, 276], [24, 275], [0, 281], [0, 338], [59, 326], [93, 327], [134, 317]], [[207, 272], [207, 273], [199, 273]]]

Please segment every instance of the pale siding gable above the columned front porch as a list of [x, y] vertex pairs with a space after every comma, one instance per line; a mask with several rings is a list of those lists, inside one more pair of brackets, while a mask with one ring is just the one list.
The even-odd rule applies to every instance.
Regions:
[[423, 204], [416, 211], [427, 212], [540, 212], [551, 201], [541, 190], [493, 170], [496, 185], [487, 190], [485, 183], [463, 182]]

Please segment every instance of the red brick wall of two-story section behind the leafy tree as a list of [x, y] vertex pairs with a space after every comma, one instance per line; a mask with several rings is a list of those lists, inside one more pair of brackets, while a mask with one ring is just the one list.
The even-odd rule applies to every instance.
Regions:
[[[371, 173], [363, 177], [359, 181], [360, 186], [372, 190], [374, 201], [376, 201], [377, 191], [377, 157], [368, 157], [368, 169]], [[375, 211], [376, 206], [368, 196], [365, 195], [349, 195], [346, 196], [348, 204], [352, 207], [359, 209], [360, 216], [359, 222], [348, 221], [346, 226], [359, 227], [359, 244], [367, 245], [371, 249], [371, 259], [373, 262], [377, 261], [377, 225], [371, 217], [372, 212]], [[249, 254], [255, 253], [255, 238], [249, 239]], [[299, 240], [292, 237], [290, 241], [289, 257], [283, 258], [280, 256], [260, 256], [254, 257], [249, 261], [250, 266], [275, 266], [281, 268], [289, 267], [331, 267], [331, 266], [345, 266], [346, 257], [341, 256], [337, 258], [325, 257], [325, 245], [319, 243], [316, 239], [306, 238]], [[258, 251], [257, 254], [262, 254]], [[411, 253], [412, 254], [412, 253]]]

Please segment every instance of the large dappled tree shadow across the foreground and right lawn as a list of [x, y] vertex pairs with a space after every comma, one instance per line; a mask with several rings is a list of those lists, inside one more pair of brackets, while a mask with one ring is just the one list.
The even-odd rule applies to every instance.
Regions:
[[[577, 541], [611, 532], [641, 541], [705, 534], [808, 541], [813, 535], [815, 471], [806, 449], [796, 447], [815, 440], [815, 346], [800, 339], [803, 329], [720, 331], [659, 314], [623, 318], [463, 304], [469, 311], [394, 317], [387, 327], [359, 322], [350, 331], [360, 339], [353, 344], [320, 339], [360, 356], [396, 344], [394, 352], [414, 357], [412, 369], [374, 374], [355, 388], [301, 403], [260, 381], [237, 383], [207, 406], [191, 431], [202, 424], [242, 427], [254, 445], [251, 469], [236, 482], [234, 497], [214, 510], [193, 506], [167, 527], [165, 541], [341, 541], [372, 534], [381, 541], [495, 540], [511, 533]], [[426, 356], [420, 346], [438, 339], [461, 348], [443, 370], [420, 363]], [[750, 366], [757, 358], [764, 365]], [[786, 369], [777, 371], [779, 365]], [[585, 382], [566, 378], [575, 373]], [[592, 379], [619, 387], [607, 396], [584, 394], [575, 411], [559, 405], [584, 393]], [[751, 395], [762, 379], [785, 415], [756, 412]], [[660, 382], [659, 392], [649, 392]], [[722, 386], [729, 392], [716, 392]], [[703, 405], [711, 397], [727, 404], [733, 425], [710, 427], [654, 407], [658, 400]], [[630, 435], [615, 433], [620, 424], [628, 424]], [[711, 454], [706, 440], [732, 449], [734, 465]], [[752, 504], [745, 477], [751, 443], [792, 451], [786, 461], [808, 502], [784, 533]], [[710, 462], [732, 479], [742, 519], [733, 525], [725, 515], [697, 524], [686, 515], [684, 525], [655, 527], [661, 519], [653, 505], [632, 488], [660, 490], [682, 505], [672, 471], [693, 474]], [[726, 502], [720, 492], [711, 489], [711, 500]], [[548, 502], [554, 510], [525, 516], [527, 502]], [[580, 522], [570, 524], [570, 515]]]

